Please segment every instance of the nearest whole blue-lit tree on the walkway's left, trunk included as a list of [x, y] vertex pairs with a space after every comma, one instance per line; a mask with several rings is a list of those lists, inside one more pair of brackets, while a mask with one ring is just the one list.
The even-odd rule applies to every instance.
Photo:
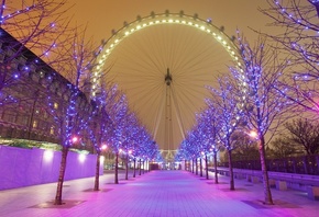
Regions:
[[[48, 105], [51, 107], [50, 112], [59, 129], [59, 144], [63, 147], [55, 196], [56, 205], [62, 204], [62, 191], [68, 150], [75, 142], [74, 138], [79, 139], [80, 134], [82, 134], [82, 140], [88, 137], [84, 129], [88, 128], [88, 116], [94, 111], [92, 104], [82, 90], [85, 90], [85, 80], [87, 75], [90, 73], [91, 65], [96, 58], [94, 54], [98, 48], [95, 48], [92, 43], [86, 39], [85, 28], [75, 30], [73, 37], [69, 39], [69, 46], [64, 46], [65, 54], [68, 57], [68, 65], [64, 66], [64, 72], [70, 83], [67, 84], [66, 90], [62, 91], [63, 93], [62, 98], [58, 99], [58, 104], [55, 102], [57, 98], [52, 96], [53, 94], [50, 88], [47, 92]], [[56, 107], [56, 105], [58, 106]]]

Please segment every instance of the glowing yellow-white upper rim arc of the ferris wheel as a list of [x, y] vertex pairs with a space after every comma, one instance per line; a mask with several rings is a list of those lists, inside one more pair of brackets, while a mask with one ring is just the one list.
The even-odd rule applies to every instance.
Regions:
[[222, 27], [218, 27], [217, 25], [212, 24], [210, 20], [200, 19], [197, 14], [184, 14], [183, 11], [180, 11], [179, 13], [169, 13], [168, 11], [164, 13], [151, 12], [150, 15], [143, 18], [138, 16], [136, 20], [130, 23], [124, 22], [124, 25], [121, 28], [119, 28], [118, 31], [113, 31], [112, 36], [110, 36], [107, 41], [102, 42], [99, 53], [97, 54], [97, 62], [90, 78], [92, 83], [91, 98], [96, 98], [96, 93], [101, 87], [101, 70], [105, 67], [109, 55], [117, 47], [117, 45], [120, 44], [122, 39], [129, 37], [131, 34], [138, 32], [139, 30], [158, 24], [182, 24], [210, 34], [212, 38], [216, 39], [216, 42], [222, 45], [224, 50], [237, 62], [237, 67], [242, 68], [241, 55], [239, 48], [234, 44], [234, 39], [226, 34], [223, 30], [221, 30]]

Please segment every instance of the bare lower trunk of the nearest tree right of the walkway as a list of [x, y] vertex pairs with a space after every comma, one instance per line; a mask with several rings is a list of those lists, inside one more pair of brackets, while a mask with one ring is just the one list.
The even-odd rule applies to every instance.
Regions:
[[262, 164], [262, 173], [263, 173], [265, 204], [273, 205], [274, 202], [273, 202], [273, 197], [272, 197], [270, 180], [268, 180], [268, 171], [267, 171], [267, 167], [266, 167], [265, 138], [264, 138], [264, 136], [261, 136], [260, 156], [261, 156], [261, 164]]

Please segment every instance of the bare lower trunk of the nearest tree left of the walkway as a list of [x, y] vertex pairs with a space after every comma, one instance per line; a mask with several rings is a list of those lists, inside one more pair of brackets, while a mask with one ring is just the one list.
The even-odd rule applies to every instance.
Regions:
[[68, 153], [68, 147], [63, 146], [54, 205], [62, 205], [63, 204], [62, 203], [62, 190], [63, 190], [63, 182], [64, 182], [64, 175], [65, 175], [65, 169], [66, 169], [67, 153]]

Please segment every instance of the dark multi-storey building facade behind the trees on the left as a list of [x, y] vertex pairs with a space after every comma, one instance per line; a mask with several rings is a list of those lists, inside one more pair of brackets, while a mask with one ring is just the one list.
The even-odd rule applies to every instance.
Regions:
[[[0, 136], [59, 144], [59, 127], [52, 115], [65, 112], [73, 84], [0, 28]], [[88, 94], [77, 99], [89, 114]], [[62, 114], [63, 115], [63, 114]], [[88, 140], [88, 139], [87, 139]]]

